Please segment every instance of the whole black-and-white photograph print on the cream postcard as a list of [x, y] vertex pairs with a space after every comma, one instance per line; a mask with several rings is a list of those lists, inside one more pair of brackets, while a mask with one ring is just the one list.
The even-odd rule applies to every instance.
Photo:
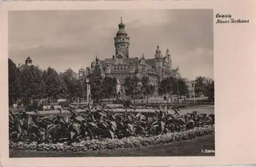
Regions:
[[214, 10], [8, 12], [9, 157], [215, 156]]

